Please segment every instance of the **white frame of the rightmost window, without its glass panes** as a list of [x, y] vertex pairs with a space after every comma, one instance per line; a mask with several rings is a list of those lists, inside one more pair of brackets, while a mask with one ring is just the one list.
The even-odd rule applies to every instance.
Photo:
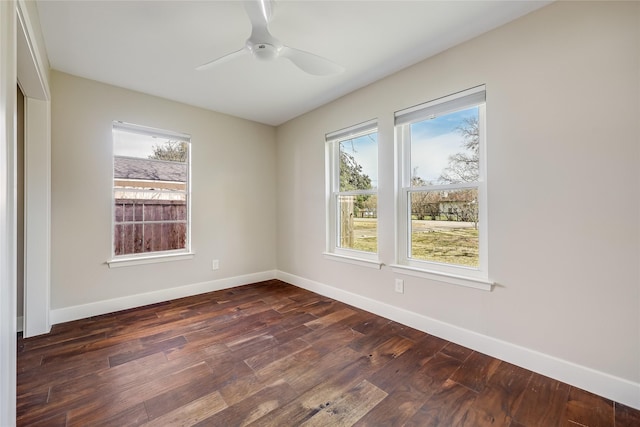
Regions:
[[[479, 178], [476, 182], [441, 184], [423, 187], [411, 186], [411, 129], [410, 125], [470, 107], [478, 107], [480, 123]], [[395, 113], [396, 130], [396, 263], [391, 267], [401, 274], [428, 278], [477, 289], [491, 290], [488, 267], [487, 218], [487, 157], [486, 157], [486, 89], [474, 87]], [[410, 257], [411, 252], [411, 192], [447, 191], [473, 188], [478, 191], [479, 266], [477, 268]]]

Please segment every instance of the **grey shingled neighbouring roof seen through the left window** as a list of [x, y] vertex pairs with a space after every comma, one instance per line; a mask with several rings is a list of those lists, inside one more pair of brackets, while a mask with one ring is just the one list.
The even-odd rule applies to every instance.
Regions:
[[186, 182], [187, 164], [168, 160], [114, 156], [113, 176], [116, 179]]

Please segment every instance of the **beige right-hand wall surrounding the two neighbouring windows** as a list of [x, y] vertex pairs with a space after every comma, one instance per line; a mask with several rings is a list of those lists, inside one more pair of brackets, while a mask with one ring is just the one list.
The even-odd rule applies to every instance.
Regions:
[[[555, 3], [280, 126], [278, 269], [639, 382], [639, 23], [637, 2]], [[493, 292], [324, 259], [325, 133], [379, 119], [390, 264], [393, 112], [479, 84]]]

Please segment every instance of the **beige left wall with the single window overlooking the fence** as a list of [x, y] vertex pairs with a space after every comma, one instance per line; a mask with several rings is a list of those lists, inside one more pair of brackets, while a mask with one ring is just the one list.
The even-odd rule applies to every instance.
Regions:
[[[53, 71], [51, 308], [276, 268], [275, 130]], [[110, 269], [111, 124], [191, 135], [192, 260]], [[212, 271], [211, 261], [220, 260]]]

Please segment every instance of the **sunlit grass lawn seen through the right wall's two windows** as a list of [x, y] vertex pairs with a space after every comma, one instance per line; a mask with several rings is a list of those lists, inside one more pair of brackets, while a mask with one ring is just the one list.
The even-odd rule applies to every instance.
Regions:
[[[444, 227], [431, 226], [430, 221], [413, 221], [411, 256], [425, 261], [478, 266], [478, 230], [468, 223], [448, 222]], [[457, 227], [460, 225], [459, 227]], [[378, 250], [378, 221], [354, 219], [353, 249]]]

